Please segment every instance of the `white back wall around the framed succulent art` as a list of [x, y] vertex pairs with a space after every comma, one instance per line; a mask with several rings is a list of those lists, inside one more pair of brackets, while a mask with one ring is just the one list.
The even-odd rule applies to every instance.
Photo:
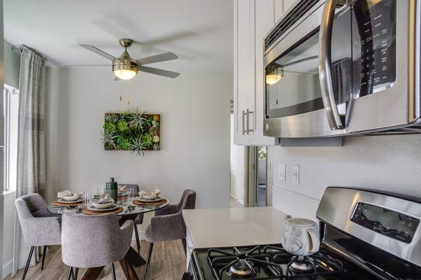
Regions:
[[[229, 99], [232, 75], [139, 73], [115, 82], [110, 67], [49, 68], [47, 76], [47, 200], [58, 190], [95, 190], [109, 177], [158, 188], [171, 202], [197, 192], [196, 207], [229, 206]], [[161, 113], [161, 151], [136, 157], [104, 151], [104, 113], [130, 108]]]

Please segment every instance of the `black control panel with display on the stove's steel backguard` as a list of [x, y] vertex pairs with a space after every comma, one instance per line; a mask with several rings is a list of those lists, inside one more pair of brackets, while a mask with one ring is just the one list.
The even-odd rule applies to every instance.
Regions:
[[405, 243], [410, 243], [420, 220], [406, 214], [359, 202], [356, 204], [351, 221]]

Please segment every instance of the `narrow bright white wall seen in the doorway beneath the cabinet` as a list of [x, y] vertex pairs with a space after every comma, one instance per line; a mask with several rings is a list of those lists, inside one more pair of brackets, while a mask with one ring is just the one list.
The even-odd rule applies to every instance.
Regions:
[[234, 114], [231, 115], [231, 197], [244, 204], [245, 146], [234, 145]]

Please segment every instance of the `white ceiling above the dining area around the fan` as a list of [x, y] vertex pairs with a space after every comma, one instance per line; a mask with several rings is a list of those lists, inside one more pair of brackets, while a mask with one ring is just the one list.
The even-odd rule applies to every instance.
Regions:
[[134, 59], [167, 51], [180, 57], [150, 66], [232, 72], [232, 17], [230, 0], [4, 0], [4, 38], [62, 66], [108, 65], [79, 44], [119, 56], [119, 38], [132, 38]]

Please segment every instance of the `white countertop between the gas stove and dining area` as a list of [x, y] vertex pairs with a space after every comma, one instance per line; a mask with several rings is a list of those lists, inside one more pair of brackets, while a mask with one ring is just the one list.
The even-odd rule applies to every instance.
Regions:
[[194, 248], [279, 244], [283, 212], [274, 207], [183, 210]]

